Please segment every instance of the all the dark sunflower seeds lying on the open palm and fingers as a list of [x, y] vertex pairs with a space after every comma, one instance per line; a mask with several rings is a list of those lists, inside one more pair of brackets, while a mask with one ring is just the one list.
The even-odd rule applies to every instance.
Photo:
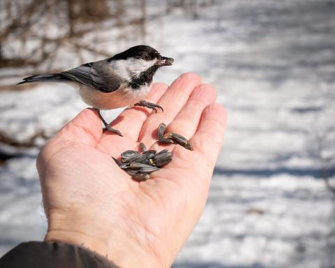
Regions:
[[[186, 137], [177, 133], [164, 134], [166, 125], [164, 123], [158, 126], [158, 140], [162, 144], [179, 144], [188, 150], [193, 150]], [[162, 151], [147, 150], [144, 143], [140, 142], [142, 153], [133, 150], [124, 151], [121, 154], [121, 161], [114, 158], [115, 163], [126, 171], [135, 181], [146, 181], [150, 178], [152, 172], [159, 170], [172, 161], [172, 153], [168, 149]]]

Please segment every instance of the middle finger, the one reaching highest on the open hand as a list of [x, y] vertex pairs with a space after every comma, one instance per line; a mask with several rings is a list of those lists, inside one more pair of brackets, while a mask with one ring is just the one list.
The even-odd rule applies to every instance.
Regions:
[[151, 113], [147, 121], [144, 122], [142, 130], [139, 135], [139, 140], [144, 144], [152, 144], [156, 140], [156, 131], [158, 125], [161, 123], [170, 124], [170, 122], [176, 117], [178, 112], [187, 102], [193, 89], [201, 83], [201, 78], [195, 73], [185, 73], [175, 80], [161, 100], [158, 101], [158, 105], [161, 105], [164, 112]]

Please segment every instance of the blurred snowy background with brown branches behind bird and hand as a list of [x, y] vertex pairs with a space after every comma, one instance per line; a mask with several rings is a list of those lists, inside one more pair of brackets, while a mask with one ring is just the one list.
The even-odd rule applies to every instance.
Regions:
[[[228, 109], [200, 222], [173, 267], [335, 267], [335, 1], [1, 0], [0, 255], [46, 230], [36, 156], [84, 109], [22, 77], [138, 44]], [[112, 120], [121, 110], [104, 112]]]

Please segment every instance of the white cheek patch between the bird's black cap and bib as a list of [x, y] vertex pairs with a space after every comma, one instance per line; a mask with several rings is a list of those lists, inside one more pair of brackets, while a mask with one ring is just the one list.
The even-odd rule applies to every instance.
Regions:
[[151, 66], [156, 64], [157, 59], [151, 61], [144, 61], [144, 59], [119, 59], [111, 61], [110, 64], [117, 75], [120, 75], [127, 81], [131, 81], [132, 78], [139, 77], [140, 73], [144, 72]]

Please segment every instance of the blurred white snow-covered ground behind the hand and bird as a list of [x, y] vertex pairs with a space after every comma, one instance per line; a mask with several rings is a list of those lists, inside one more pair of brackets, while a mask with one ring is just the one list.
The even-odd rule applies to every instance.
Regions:
[[[175, 59], [156, 81], [195, 71], [228, 109], [207, 207], [174, 267], [334, 267], [334, 195], [319, 155], [335, 158], [335, 2], [218, 2], [199, 20], [175, 11], [148, 25], [147, 42]], [[3, 91], [0, 131], [52, 133], [84, 107], [58, 85]], [[0, 255], [45, 233], [38, 148], [16, 152], [0, 166]]]

